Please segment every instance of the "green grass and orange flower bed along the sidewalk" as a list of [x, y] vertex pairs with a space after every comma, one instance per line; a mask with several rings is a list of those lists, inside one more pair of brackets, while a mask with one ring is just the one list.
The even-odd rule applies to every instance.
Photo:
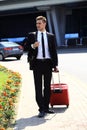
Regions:
[[0, 65], [0, 130], [13, 125], [20, 85], [21, 75]]

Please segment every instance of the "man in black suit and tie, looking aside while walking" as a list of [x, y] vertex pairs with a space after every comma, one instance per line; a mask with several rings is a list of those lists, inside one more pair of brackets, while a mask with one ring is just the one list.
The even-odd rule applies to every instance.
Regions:
[[46, 18], [38, 16], [36, 27], [36, 32], [28, 34], [28, 62], [34, 75], [38, 117], [44, 117], [46, 113], [53, 113], [49, 110], [50, 84], [52, 69], [58, 71], [58, 57], [54, 34], [46, 31]]

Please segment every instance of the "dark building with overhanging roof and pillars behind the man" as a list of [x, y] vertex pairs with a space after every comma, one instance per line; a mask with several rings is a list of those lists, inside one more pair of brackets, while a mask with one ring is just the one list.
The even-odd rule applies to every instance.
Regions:
[[44, 15], [58, 47], [82, 45], [87, 37], [86, 12], [86, 0], [2, 0], [0, 38], [26, 37], [36, 29], [35, 18]]

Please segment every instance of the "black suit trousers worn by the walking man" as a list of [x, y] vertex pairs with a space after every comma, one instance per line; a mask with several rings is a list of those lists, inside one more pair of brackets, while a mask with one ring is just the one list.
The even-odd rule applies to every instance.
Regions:
[[39, 111], [49, 109], [50, 101], [50, 84], [52, 77], [52, 62], [50, 59], [35, 61], [34, 69], [35, 97]]

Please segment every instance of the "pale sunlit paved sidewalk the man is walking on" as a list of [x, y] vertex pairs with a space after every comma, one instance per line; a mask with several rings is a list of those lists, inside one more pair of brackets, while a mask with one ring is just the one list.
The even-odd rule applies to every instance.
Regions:
[[[21, 66], [22, 87], [14, 130], [87, 130], [87, 86], [60, 69], [61, 82], [67, 83], [70, 105], [54, 106], [54, 114], [38, 118], [32, 71]], [[57, 79], [57, 76], [56, 76]]]

